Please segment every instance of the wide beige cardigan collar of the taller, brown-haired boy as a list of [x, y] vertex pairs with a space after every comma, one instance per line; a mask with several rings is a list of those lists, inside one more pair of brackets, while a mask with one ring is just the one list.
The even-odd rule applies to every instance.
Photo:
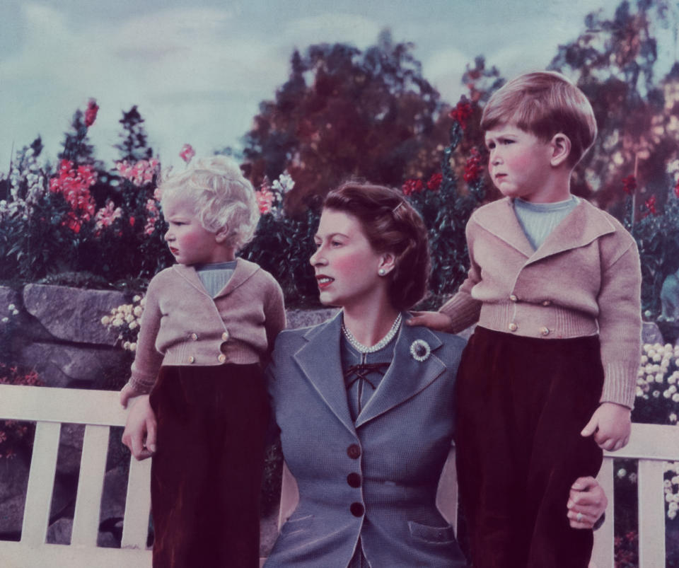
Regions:
[[474, 220], [479, 226], [518, 250], [526, 257], [527, 264], [565, 250], [586, 246], [600, 236], [615, 232], [615, 226], [606, 218], [603, 211], [582, 198], [566, 219], [567, 223], [564, 219], [545, 242], [537, 250], [533, 250], [518, 222], [509, 197], [490, 203], [474, 214]]

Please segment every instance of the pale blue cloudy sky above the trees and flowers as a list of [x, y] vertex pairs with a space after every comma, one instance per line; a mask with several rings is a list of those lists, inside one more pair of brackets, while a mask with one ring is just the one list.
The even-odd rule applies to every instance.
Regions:
[[[54, 159], [76, 108], [100, 105], [90, 130], [112, 159], [122, 110], [138, 105], [164, 164], [238, 146], [289, 57], [318, 42], [364, 48], [388, 27], [413, 42], [445, 100], [463, 92], [483, 54], [504, 76], [543, 68], [584, 30], [586, 13], [617, 0], [0, 0], [0, 172], [11, 148], [40, 134]], [[659, 30], [662, 31], [662, 30]], [[672, 44], [672, 45], [670, 45]], [[661, 42], [661, 57], [673, 57]], [[672, 53], [670, 53], [672, 51]]]

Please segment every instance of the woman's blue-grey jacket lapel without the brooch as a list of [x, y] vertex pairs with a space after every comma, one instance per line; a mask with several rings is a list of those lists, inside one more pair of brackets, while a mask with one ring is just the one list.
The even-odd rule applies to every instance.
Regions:
[[306, 335], [308, 343], [293, 357], [320, 398], [330, 407], [344, 427], [355, 435], [356, 430], [347, 402], [347, 390], [342, 379], [341, 332], [342, 313], [340, 312], [325, 325], [312, 328]]

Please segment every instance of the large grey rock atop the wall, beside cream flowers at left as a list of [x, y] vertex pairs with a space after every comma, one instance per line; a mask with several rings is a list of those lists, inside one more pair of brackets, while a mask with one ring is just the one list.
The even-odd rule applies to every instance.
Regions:
[[27, 284], [23, 304], [58, 340], [115, 345], [117, 332], [106, 328], [101, 318], [126, 303], [117, 291], [83, 290], [67, 286]]

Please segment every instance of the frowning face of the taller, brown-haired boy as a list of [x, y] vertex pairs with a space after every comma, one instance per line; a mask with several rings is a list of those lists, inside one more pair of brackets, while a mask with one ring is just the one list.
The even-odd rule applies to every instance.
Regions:
[[534, 203], [552, 201], [550, 142], [511, 123], [487, 130], [485, 142], [488, 171], [502, 195]]

